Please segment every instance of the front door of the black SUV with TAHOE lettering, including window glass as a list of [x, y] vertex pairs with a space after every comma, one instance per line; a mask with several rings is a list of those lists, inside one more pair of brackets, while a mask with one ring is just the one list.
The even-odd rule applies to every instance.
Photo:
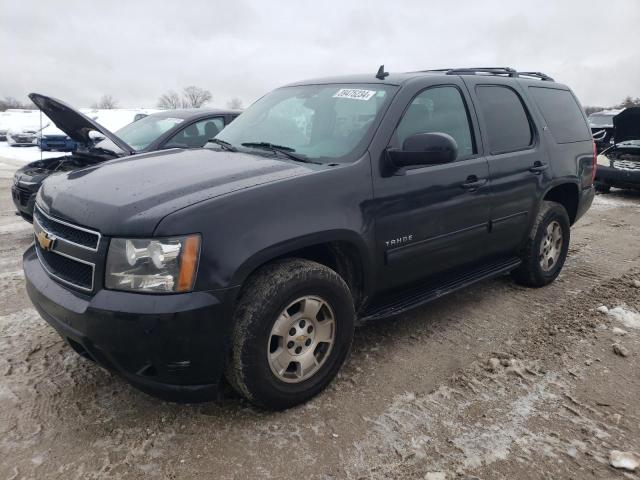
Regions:
[[468, 99], [458, 85], [417, 93], [389, 147], [417, 133], [442, 132], [458, 145], [447, 164], [419, 166], [375, 179], [378, 286], [390, 289], [474, 262], [488, 237], [489, 170], [478, 155]]

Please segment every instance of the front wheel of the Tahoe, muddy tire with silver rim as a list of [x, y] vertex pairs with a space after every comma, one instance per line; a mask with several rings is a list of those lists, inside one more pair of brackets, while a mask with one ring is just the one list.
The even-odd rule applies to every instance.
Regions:
[[349, 287], [330, 268], [302, 259], [268, 264], [242, 290], [227, 380], [267, 409], [303, 403], [338, 373], [351, 348], [354, 320]]

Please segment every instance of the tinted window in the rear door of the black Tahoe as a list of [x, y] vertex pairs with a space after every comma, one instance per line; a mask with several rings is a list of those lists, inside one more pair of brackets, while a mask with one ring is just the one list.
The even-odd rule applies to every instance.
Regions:
[[529, 117], [516, 92], [501, 85], [479, 85], [476, 94], [493, 155], [524, 150], [533, 143]]

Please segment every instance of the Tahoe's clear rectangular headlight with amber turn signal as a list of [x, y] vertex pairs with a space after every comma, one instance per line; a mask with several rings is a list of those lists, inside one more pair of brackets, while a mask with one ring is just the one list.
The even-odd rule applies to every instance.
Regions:
[[114, 238], [107, 254], [105, 286], [113, 290], [188, 292], [193, 289], [200, 235]]

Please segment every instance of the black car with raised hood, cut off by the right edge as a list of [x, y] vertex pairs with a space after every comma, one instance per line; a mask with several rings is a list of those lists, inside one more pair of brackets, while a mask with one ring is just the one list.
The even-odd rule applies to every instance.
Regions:
[[640, 189], [640, 107], [626, 108], [613, 118], [613, 144], [598, 155], [596, 189]]

